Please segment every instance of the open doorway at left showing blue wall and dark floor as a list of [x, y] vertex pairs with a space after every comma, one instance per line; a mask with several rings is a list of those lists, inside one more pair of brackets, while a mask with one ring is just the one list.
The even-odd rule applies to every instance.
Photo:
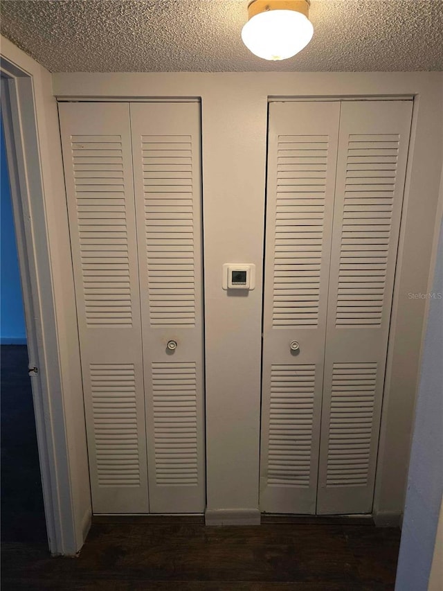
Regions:
[[0, 135], [1, 542], [2, 545], [46, 544], [42, 479], [37, 450], [33, 393], [28, 376], [28, 349], [3, 125], [1, 125]]

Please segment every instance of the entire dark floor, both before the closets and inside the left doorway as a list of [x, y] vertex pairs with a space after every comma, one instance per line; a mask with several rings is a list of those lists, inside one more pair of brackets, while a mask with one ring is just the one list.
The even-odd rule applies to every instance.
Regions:
[[3, 591], [394, 588], [399, 530], [360, 521], [266, 517], [260, 527], [205, 527], [199, 517], [96, 518], [78, 558], [51, 558], [26, 351], [1, 349]]

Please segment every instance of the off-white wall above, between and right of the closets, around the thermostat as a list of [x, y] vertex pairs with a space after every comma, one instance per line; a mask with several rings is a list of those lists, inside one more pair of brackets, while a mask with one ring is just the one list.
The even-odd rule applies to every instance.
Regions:
[[[426, 292], [442, 161], [441, 73], [58, 73], [60, 98], [201, 97], [203, 125], [208, 509], [257, 510], [260, 328], [270, 96], [415, 95], [392, 312], [374, 510], [398, 522], [404, 504]], [[221, 289], [221, 265], [257, 266], [248, 297]]]

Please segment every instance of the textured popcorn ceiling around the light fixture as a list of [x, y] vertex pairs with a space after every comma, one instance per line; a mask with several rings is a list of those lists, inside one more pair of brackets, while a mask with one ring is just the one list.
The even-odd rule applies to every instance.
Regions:
[[284, 62], [243, 45], [247, 0], [2, 0], [1, 33], [52, 72], [443, 69], [443, 0], [311, 0]]

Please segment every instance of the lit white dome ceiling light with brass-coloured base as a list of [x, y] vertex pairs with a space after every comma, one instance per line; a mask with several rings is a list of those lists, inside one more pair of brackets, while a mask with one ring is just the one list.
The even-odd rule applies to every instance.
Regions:
[[314, 34], [309, 0], [252, 0], [242, 39], [264, 60], [287, 60], [306, 47]]

